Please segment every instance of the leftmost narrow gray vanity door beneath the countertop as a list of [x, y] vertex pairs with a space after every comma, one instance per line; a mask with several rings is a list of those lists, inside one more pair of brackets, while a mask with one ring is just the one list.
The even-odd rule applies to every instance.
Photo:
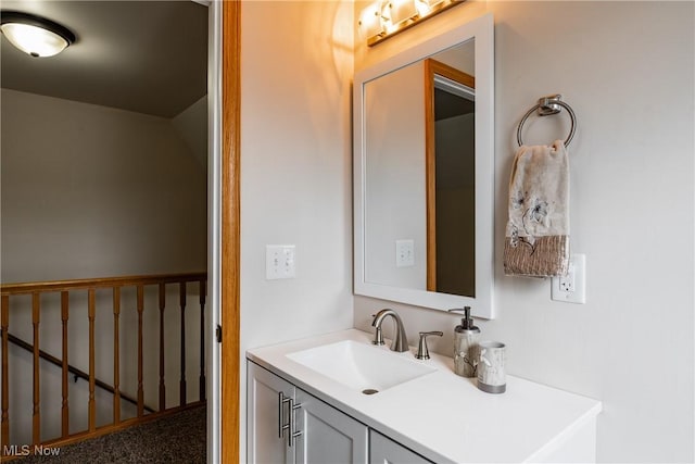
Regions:
[[[247, 453], [251, 464], [294, 464], [294, 448], [288, 446], [288, 430], [281, 436], [281, 425], [288, 424], [289, 411], [282, 405], [280, 392], [294, 398], [294, 386], [269, 371], [248, 362], [247, 378]], [[224, 440], [224, 437], [223, 437]]]

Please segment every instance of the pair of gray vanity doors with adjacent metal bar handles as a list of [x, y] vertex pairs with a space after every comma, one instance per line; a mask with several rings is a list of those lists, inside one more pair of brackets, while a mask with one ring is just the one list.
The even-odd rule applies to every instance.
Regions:
[[368, 428], [248, 363], [250, 463], [367, 463]]

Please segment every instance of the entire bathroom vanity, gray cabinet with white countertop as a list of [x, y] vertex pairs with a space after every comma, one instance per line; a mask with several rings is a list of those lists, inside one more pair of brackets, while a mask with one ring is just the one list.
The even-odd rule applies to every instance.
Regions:
[[[595, 462], [601, 401], [515, 376], [507, 376], [504, 394], [489, 394], [457, 376], [451, 358], [431, 353], [420, 362], [413, 358], [415, 350], [394, 353], [371, 344], [372, 338], [349, 329], [249, 350], [248, 462]], [[334, 378], [336, 369], [344, 371], [337, 356], [325, 356], [327, 365], [311, 368], [300, 362], [307, 353], [334, 354], [353, 343], [391, 356], [389, 368], [378, 364], [390, 379], [403, 374], [405, 361], [432, 371], [374, 396], [362, 394], [362, 385]], [[354, 347], [350, 352], [356, 352]], [[359, 362], [377, 365], [369, 360]], [[292, 406], [298, 407], [290, 414]], [[280, 438], [282, 425], [287, 429]], [[291, 430], [298, 432], [294, 442], [288, 441]]]

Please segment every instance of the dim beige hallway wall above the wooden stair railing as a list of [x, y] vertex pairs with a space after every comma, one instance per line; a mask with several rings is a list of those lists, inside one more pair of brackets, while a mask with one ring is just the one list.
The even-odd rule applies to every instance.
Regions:
[[169, 120], [2, 89], [2, 281], [204, 269], [205, 173]]

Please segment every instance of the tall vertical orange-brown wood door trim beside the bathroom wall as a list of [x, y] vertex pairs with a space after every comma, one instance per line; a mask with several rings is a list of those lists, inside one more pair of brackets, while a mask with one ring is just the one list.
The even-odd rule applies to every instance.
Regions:
[[222, 452], [223, 463], [239, 455], [239, 254], [240, 254], [240, 64], [241, 1], [222, 5]]

